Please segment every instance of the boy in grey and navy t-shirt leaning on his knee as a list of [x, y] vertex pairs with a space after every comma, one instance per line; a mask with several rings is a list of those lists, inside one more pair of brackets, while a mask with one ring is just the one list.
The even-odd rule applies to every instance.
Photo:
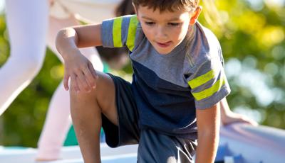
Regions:
[[[139, 143], [138, 162], [214, 162], [220, 101], [229, 94], [217, 38], [199, 23], [199, 0], [133, 0], [136, 16], [66, 28], [56, 46], [71, 77], [71, 116], [84, 162]], [[78, 47], [130, 50], [132, 84], [95, 72]], [[198, 140], [199, 145], [197, 146]]]

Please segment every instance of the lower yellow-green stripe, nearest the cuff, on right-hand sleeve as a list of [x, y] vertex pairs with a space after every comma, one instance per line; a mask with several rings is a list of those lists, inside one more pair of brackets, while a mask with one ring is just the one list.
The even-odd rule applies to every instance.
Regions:
[[221, 77], [221, 79], [217, 80], [214, 85], [209, 87], [209, 89], [205, 89], [204, 91], [200, 91], [197, 93], [192, 93], [192, 95], [195, 97], [197, 101], [206, 99], [207, 97], [212, 96], [214, 93], [219, 91], [219, 89], [221, 89], [221, 87], [225, 84], [225, 82], [226, 81], [224, 80], [224, 77]]

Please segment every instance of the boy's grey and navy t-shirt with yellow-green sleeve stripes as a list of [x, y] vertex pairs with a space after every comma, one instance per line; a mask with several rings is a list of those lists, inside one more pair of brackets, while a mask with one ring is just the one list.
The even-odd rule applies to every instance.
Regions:
[[195, 23], [188, 31], [190, 37], [160, 55], [135, 15], [103, 21], [101, 30], [104, 47], [130, 50], [140, 129], [197, 139], [195, 109], [213, 106], [230, 91], [214, 34]]

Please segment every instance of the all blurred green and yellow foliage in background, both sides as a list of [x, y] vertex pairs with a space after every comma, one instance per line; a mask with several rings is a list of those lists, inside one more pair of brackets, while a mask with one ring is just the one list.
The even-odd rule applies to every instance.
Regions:
[[[199, 21], [212, 29], [221, 43], [232, 89], [229, 106], [261, 124], [285, 128], [285, 9], [270, 1], [259, 2], [216, 1], [218, 15], [204, 6], [204, 13], [209, 14]], [[0, 66], [9, 56], [6, 35], [4, 16], [0, 16]], [[116, 73], [124, 76], [131, 72], [128, 65]], [[61, 77], [61, 62], [47, 51], [41, 72], [0, 117], [1, 145], [36, 147], [48, 103]]]

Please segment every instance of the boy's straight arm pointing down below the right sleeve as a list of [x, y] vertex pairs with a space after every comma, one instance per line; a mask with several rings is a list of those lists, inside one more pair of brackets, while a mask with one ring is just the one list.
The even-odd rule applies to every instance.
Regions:
[[219, 145], [220, 103], [206, 109], [196, 109], [198, 146], [196, 163], [214, 162]]

